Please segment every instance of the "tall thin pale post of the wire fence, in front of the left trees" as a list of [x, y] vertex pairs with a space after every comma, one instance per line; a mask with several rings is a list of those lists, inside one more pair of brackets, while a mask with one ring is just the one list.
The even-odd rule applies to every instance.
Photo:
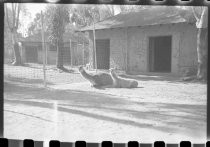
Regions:
[[45, 50], [45, 40], [44, 40], [44, 29], [43, 29], [43, 14], [41, 11], [41, 24], [42, 24], [42, 51], [43, 51], [43, 73], [44, 73], [44, 87], [46, 88], [46, 70], [45, 70], [45, 62], [46, 62], [46, 50]]

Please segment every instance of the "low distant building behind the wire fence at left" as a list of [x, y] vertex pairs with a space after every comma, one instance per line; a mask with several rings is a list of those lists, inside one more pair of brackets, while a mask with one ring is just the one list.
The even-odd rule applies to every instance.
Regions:
[[[64, 64], [83, 64], [83, 49], [88, 47], [87, 40], [72, 37], [70, 33], [64, 34]], [[56, 64], [57, 48], [49, 41], [49, 34], [45, 33], [47, 50], [47, 64]], [[70, 42], [71, 41], [71, 42]], [[70, 47], [71, 46], [71, 47]], [[87, 50], [87, 49], [86, 49]], [[85, 51], [84, 51], [85, 52]], [[41, 33], [26, 37], [22, 41], [23, 63], [43, 63], [43, 49]], [[86, 59], [87, 60], [87, 59]], [[87, 61], [85, 61], [87, 62]]]

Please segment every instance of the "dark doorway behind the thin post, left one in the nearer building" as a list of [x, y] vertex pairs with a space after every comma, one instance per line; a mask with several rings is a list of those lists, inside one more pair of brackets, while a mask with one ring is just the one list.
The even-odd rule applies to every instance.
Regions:
[[110, 40], [96, 40], [97, 69], [109, 69], [110, 66]]

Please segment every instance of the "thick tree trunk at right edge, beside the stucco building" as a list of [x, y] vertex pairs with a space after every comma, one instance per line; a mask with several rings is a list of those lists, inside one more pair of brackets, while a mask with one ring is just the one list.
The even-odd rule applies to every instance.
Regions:
[[198, 71], [197, 78], [204, 79], [207, 78], [207, 40], [208, 29], [199, 28], [197, 36], [197, 54], [198, 54]]

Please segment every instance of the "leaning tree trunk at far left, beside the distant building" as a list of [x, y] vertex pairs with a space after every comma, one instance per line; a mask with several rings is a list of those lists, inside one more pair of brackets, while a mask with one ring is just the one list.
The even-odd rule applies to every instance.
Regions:
[[14, 51], [14, 62], [12, 63], [15, 66], [21, 65], [21, 55], [20, 55], [20, 46], [18, 42], [16, 41], [17, 39], [15, 38], [15, 34], [12, 34], [13, 38], [13, 51]]

